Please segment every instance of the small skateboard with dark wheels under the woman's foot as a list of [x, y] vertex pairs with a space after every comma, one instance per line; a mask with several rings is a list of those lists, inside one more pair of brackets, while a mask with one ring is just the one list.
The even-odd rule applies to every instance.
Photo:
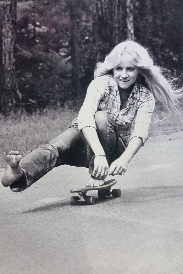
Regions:
[[111, 187], [116, 184], [117, 181], [115, 179], [108, 180], [104, 182], [104, 185], [101, 186], [93, 186], [93, 187], [83, 187], [78, 189], [70, 189], [70, 193], [77, 193], [79, 196], [70, 197], [71, 205], [79, 205], [80, 203], [84, 203], [86, 205], [94, 205], [95, 197], [94, 196], [86, 196], [86, 193], [91, 190], [98, 190], [98, 198], [105, 199], [107, 196], [112, 195], [113, 197], [120, 197], [121, 190], [113, 189], [111, 191]]

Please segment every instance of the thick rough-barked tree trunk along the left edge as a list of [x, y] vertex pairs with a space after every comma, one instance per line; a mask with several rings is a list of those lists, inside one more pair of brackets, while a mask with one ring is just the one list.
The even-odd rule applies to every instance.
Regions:
[[15, 26], [16, 2], [4, 3], [2, 37], [2, 74], [0, 90], [0, 112], [6, 114], [19, 105], [20, 94], [15, 80]]

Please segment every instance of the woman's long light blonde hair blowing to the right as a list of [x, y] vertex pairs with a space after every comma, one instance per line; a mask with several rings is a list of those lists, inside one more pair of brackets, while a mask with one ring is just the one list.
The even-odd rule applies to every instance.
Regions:
[[176, 87], [173, 78], [166, 79], [163, 75], [164, 69], [154, 65], [147, 49], [134, 41], [118, 44], [106, 56], [104, 62], [98, 62], [94, 72], [95, 78], [112, 73], [112, 70], [121, 62], [121, 55], [124, 53], [128, 53], [132, 57], [133, 64], [139, 68], [137, 82], [140, 81], [156, 99], [155, 116], [158, 115], [159, 104], [161, 106], [163, 104], [166, 111], [179, 112], [177, 98], [182, 95], [182, 88]]

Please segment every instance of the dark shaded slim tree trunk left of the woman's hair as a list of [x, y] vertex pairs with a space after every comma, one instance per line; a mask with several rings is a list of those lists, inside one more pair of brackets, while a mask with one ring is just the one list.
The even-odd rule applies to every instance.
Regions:
[[80, 85], [80, 66], [78, 58], [78, 42], [77, 42], [77, 23], [76, 23], [76, 7], [75, 1], [69, 3], [69, 16], [70, 16], [70, 53], [71, 53], [71, 77], [72, 77], [72, 90], [74, 97], [79, 97], [81, 94]]

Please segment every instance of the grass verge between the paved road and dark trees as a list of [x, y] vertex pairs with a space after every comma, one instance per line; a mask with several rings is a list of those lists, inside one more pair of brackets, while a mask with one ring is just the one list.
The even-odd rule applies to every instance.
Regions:
[[[46, 109], [32, 115], [12, 114], [0, 116], [0, 168], [4, 167], [4, 158], [11, 150], [18, 150], [23, 156], [67, 129], [77, 117], [78, 110]], [[182, 115], [169, 115], [167, 119], [152, 125], [150, 135], [168, 134], [183, 130]]]

